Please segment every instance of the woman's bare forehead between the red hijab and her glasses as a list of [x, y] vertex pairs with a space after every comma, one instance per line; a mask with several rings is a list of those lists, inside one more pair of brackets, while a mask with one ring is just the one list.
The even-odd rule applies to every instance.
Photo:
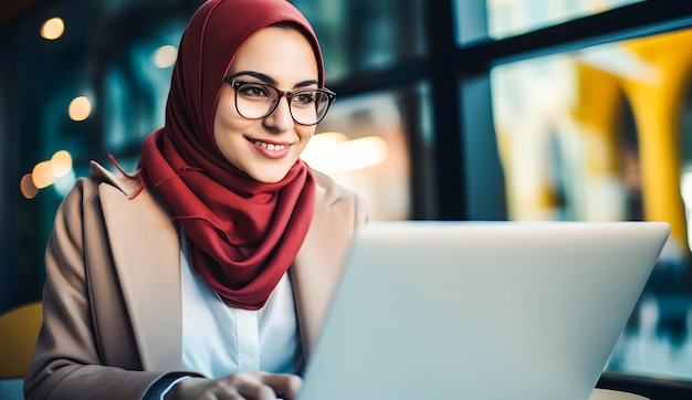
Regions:
[[229, 75], [253, 71], [277, 82], [317, 80], [318, 69], [311, 42], [293, 28], [269, 27], [250, 36], [235, 54]]

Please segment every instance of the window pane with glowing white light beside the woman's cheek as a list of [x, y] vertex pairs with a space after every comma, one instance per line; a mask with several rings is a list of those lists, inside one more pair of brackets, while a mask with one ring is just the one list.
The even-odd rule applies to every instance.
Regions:
[[[373, 220], [410, 218], [410, 149], [406, 92], [355, 96], [334, 103], [303, 159], [360, 193]], [[418, 96], [412, 98], [420, 103]]]

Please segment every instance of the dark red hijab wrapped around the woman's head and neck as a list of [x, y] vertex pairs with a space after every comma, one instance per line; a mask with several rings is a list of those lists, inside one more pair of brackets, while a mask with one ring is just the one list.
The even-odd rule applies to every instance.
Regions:
[[144, 175], [180, 222], [192, 267], [227, 304], [247, 309], [261, 308], [289, 270], [314, 210], [314, 177], [302, 160], [283, 180], [262, 183], [233, 167], [213, 139], [219, 90], [233, 57], [276, 22], [303, 28], [323, 85], [315, 33], [289, 1], [209, 0], [182, 34], [166, 124], [141, 148]]

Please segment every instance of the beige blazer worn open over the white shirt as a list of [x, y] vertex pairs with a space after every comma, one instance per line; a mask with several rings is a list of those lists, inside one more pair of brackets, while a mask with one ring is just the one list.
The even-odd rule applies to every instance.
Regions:
[[[340, 276], [359, 198], [316, 173], [315, 214], [290, 270], [307, 357]], [[158, 192], [92, 164], [55, 217], [28, 399], [138, 399], [181, 358], [178, 229]]]

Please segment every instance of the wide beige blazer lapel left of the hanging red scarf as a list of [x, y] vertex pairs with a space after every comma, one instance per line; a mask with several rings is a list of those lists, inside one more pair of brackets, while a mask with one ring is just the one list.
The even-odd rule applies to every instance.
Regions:
[[182, 338], [176, 225], [149, 190], [132, 199], [112, 185], [99, 185], [98, 192], [143, 367], [179, 368]]

